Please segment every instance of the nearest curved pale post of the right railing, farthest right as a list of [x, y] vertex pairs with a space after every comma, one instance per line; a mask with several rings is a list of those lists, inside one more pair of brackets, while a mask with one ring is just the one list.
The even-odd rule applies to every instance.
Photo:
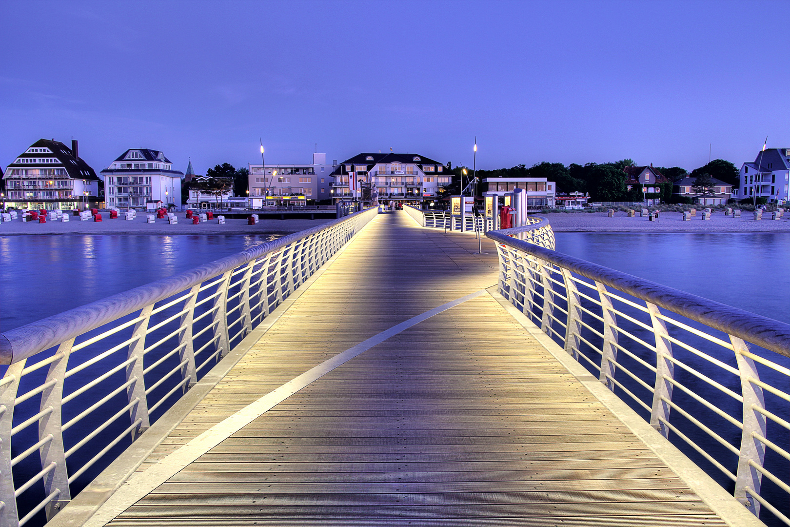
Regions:
[[735, 348], [735, 360], [741, 378], [741, 394], [743, 395], [743, 432], [741, 434], [740, 456], [738, 458], [738, 472], [735, 479], [735, 499], [747, 506], [755, 516], [760, 515], [760, 503], [752, 499], [749, 493], [759, 494], [762, 484], [762, 473], [754, 468], [758, 465], [762, 469], [766, 459], [766, 446], [755, 437], [766, 437], [766, 416], [756, 408], [766, 408], [766, 401], [762, 395], [762, 388], [754, 381], [760, 380], [754, 360], [744, 353], [749, 352], [749, 346], [743, 340], [730, 335], [730, 342]]

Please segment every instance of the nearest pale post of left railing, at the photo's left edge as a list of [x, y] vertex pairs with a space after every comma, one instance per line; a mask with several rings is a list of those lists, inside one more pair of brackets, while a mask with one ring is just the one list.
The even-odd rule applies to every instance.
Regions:
[[13, 363], [6, 370], [3, 379], [13, 378], [0, 386], [0, 444], [2, 444], [2, 456], [0, 456], [0, 503], [3, 504], [0, 510], [0, 527], [17, 527], [19, 525], [19, 511], [17, 510], [17, 498], [14, 495], [13, 469], [11, 469], [11, 429], [13, 428], [13, 405], [17, 400], [19, 381], [24, 370], [23, 359], [18, 363]]

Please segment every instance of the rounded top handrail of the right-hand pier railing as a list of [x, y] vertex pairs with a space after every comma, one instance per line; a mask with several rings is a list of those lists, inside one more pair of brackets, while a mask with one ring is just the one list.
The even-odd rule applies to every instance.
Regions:
[[[542, 219], [548, 224], [546, 218]], [[546, 262], [570, 269], [590, 280], [599, 281], [638, 299], [790, 357], [790, 324], [510, 237], [540, 228], [543, 224], [541, 221], [524, 227], [489, 231], [486, 236]]]

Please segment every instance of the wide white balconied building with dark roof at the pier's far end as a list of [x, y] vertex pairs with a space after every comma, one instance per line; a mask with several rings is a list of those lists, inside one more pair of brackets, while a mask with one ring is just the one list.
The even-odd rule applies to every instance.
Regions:
[[416, 204], [434, 198], [450, 185], [447, 167], [426, 156], [409, 153], [360, 153], [344, 160], [332, 173], [334, 201], [359, 199], [363, 184], [371, 184], [379, 201]]

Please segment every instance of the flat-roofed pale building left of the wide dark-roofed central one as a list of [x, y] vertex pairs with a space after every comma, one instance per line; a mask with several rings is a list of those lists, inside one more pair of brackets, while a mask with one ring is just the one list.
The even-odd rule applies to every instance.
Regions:
[[248, 168], [253, 209], [292, 196], [304, 196], [303, 201], [330, 198], [333, 165], [326, 164], [325, 153], [314, 153], [312, 164], [249, 164]]

